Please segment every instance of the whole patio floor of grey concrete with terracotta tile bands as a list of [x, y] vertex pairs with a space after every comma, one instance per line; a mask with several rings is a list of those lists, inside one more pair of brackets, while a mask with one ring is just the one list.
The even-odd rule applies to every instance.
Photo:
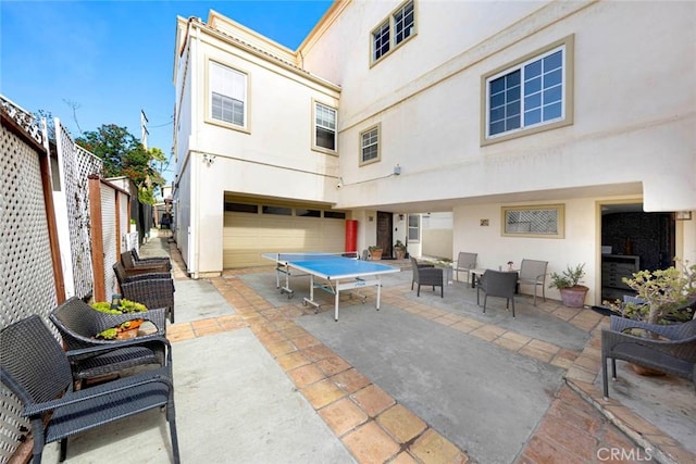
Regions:
[[[315, 314], [275, 289], [272, 267], [190, 280], [171, 254], [173, 342], [183, 462], [599, 463], [696, 462], [691, 383], [645, 378], [619, 363], [601, 398], [599, 330], [607, 317], [519, 297], [486, 313], [464, 283], [410, 290], [410, 265], [383, 278], [382, 309], [341, 294]], [[668, 392], [666, 394], [666, 392]], [[57, 446], [45, 453], [57, 461]], [[71, 463], [126, 455], [170, 462], [159, 413], [76, 437]], [[54, 453], [54, 456], [51, 456]]]

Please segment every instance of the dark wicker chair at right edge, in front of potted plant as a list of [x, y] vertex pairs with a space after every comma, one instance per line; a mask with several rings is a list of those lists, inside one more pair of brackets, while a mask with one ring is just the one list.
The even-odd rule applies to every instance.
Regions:
[[[632, 329], [647, 333], [645, 336], [626, 333]], [[689, 379], [696, 387], [696, 319], [662, 325], [612, 315], [609, 329], [601, 330], [601, 381], [605, 398], [609, 398], [608, 359], [611, 360], [611, 378], [614, 380], [617, 360], [623, 360]]]

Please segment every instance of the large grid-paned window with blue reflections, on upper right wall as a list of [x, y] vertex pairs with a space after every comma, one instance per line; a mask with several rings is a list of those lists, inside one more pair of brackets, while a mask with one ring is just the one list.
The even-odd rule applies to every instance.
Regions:
[[485, 77], [484, 141], [572, 124], [571, 63], [572, 38]]

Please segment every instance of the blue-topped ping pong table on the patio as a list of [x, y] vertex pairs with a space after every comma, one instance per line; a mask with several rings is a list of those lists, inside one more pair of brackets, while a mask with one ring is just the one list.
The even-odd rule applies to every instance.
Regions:
[[[357, 290], [364, 287], [377, 287], [376, 309], [380, 310], [381, 276], [398, 273], [401, 269], [386, 264], [360, 261], [332, 253], [263, 253], [266, 260], [275, 261], [275, 284], [282, 293], [291, 298], [290, 276], [309, 275], [309, 298], [302, 303], [319, 310], [321, 303], [314, 301], [314, 289], [334, 294], [334, 319], [338, 321], [338, 299], [341, 290]], [[285, 287], [281, 287], [281, 274], [285, 275]], [[320, 284], [314, 278], [320, 278]], [[363, 302], [364, 296], [361, 296]]]

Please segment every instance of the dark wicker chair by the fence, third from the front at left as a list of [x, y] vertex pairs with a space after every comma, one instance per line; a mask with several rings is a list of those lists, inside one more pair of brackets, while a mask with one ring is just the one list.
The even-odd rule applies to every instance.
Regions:
[[170, 322], [174, 324], [174, 280], [170, 273], [128, 276], [121, 262], [113, 265], [113, 271], [123, 298], [148, 308], [166, 309]]

